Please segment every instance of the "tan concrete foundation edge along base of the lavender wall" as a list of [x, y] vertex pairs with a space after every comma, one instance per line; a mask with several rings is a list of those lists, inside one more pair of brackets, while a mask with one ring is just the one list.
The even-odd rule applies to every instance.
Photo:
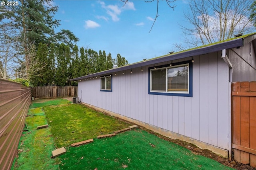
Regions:
[[92, 107], [92, 108], [94, 108], [94, 109], [96, 109], [98, 111], [102, 111], [104, 113], [108, 113], [109, 115], [114, 115], [115, 117], [119, 117], [119, 118], [124, 119], [126, 121], [130, 121], [132, 123], [135, 123], [137, 125], [145, 127], [146, 129], [149, 129], [151, 131], [154, 131], [156, 133], [159, 133], [159, 134], [161, 134], [163, 136], [166, 136], [166, 137], [169, 137], [171, 139], [180, 139], [182, 141], [186, 141], [188, 143], [196, 145], [199, 148], [211, 150], [215, 154], [218, 154], [219, 156], [223, 156], [224, 158], [228, 158], [228, 150], [226, 150], [226, 149], [218, 148], [218, 147], [210, 145], [208, 143], [204, 143], [202, 141], [198, 141], [196, 139], [192, 139], [190, 137], [186, 137], [184, 135], [180, 135], [178, 133], [175, 133], [175, 132], [172, 132], [172, 131], [168, 131], [166, 129], [162, 129], [162, 128], [156, 127], [154, 125], [150, 125], [148, 123], [144, 123], [142, 121], [138, 121], [138, 120], [132, 119], [130, 117], [126, 117], [126, 116], [120, 115], [118, 113], [114, 113], [112, 111], [108, 111], [108, 110], [102, 109], [100, 107], [96, 107], [96, 106], [93, 106], [93, 105], [90, 105], [90, 104], [86, 104], [84, 102], [82, 102], [82, 104], [84, 104], [84, 105], [86, 105], [88, 107]]

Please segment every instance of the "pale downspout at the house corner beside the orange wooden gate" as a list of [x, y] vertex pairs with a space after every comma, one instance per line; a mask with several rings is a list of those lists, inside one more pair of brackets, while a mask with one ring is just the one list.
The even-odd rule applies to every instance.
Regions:
[[232, 156], [232, 127], [231, 127], [231, 83], [232, 83], [232, 63], [230, 62], [230, 60], [228, 59], [228, 56], [226, 54], [226, 49], [223, 49], [222, 50], [222, 59], [225, 61], [225, 63], [228, 65], [228, 68], [229, 68], [229, 82], [228, 82], [228, 108], [229, 108], [229, 111], [228, 111], [228, 129], [229, 129], [229, 137], [228, 137], [228, 159], [231, 161], [231, 156]]

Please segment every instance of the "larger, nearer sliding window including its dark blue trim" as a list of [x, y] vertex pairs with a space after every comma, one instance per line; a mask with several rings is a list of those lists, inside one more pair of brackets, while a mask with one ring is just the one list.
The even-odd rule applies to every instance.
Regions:
[[149, 94], [192, 97], [192, 63], [149, 68]]

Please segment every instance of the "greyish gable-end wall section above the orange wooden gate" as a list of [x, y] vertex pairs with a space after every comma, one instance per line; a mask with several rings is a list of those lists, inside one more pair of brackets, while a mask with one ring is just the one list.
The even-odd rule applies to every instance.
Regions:
[[246, 43], [240, 49], [230, 49], [228, 57], [232, 63], [232, 82], [256, 80], [256, 40]]

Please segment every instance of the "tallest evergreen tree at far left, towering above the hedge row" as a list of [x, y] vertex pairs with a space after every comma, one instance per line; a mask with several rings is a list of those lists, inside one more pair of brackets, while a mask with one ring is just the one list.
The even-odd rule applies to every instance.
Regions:
[[18, 6], [0, 6], [0, 27], [12, 33], [15, 32], [11, 38], [12, 47], [18, 51], [15, 55], [19, 65], [19, 68], [15, 69], [16, 76], [29, 78], [31, 77], [29, 74], [34, 73], [31, 68], [37, 64], [32, 62], [37, 61], [33, 57], [36, 55], [39, 43], [50, 46], [53, 42], [58, 46], [58, 43], [63, 42], [73, 47], [79, 39], [66, 29], [61, 29], [58, 33], [54, 32], [54, 28], [60, 25], [60, 20], [54, 19], [58, 6], [52, 6], [53, 0], [17, 2]]

